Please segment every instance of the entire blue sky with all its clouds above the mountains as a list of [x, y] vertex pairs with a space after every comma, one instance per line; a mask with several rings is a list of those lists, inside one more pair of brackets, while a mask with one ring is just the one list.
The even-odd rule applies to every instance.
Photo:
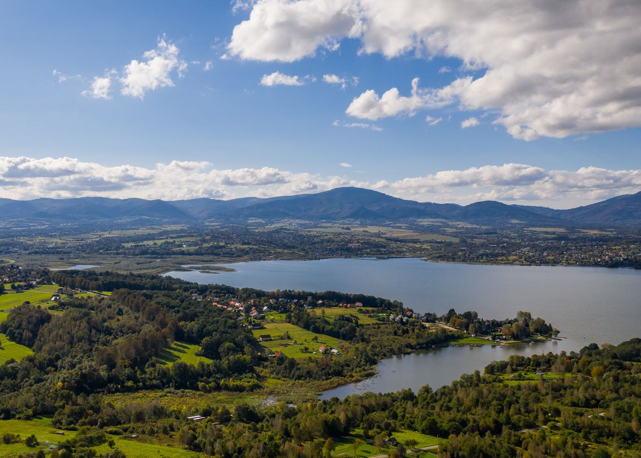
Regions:
[[0, 198], [641, 191], [638, 0], [0, 3]]

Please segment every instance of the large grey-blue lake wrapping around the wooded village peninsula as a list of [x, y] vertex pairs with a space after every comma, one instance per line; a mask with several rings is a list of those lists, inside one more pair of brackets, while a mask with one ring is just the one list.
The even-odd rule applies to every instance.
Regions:
[[[199, 264], [202, 265], [202, 264]], [[382, 360], [378, 375], [325, 391], [321, 398], [449, 384], [509, 355], [562, 350], [641, 337], [641, 271], [604, 267], [478, 266], [421, 259], [322, 259], [217, 264], [236, 271], [165, 275], [201, 284], [274, 291], [341, 291], [402, 301], [415, 312], [476, 310], [481, 318], [514, 318], [519, 310], [560, 330], [561, 340], [503, 348], [449, 346]]]

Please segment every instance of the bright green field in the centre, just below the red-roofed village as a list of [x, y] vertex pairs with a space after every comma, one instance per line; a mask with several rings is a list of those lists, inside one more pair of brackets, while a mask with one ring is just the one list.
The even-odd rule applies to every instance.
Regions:
[[[281, 339], [285, 333], [289, 334], [290, 339]], [[320, 346], [333, 346], [335, 348], [344, 348], [347, 342], [329, 335], [315, 334], [303, 328], [291, 325], [290, 323], [265, 323], [265, 329], [256, 329], [253, 331], [254, 337], [269, 334], [272, 336], [271, 341], [262, 342], [262, 346], [271, 352], [280, 350], [290, 358], [306, 358], [314, 356], [313, 352], [317, 351]], [[317, 341], [313, 338], [317, 337]], [[295, 343], [296, 342], [296, 343]], [[304, 347], [308, 352], [304, 352]], [[318, 355], [320, 356], [320, 355]]]

